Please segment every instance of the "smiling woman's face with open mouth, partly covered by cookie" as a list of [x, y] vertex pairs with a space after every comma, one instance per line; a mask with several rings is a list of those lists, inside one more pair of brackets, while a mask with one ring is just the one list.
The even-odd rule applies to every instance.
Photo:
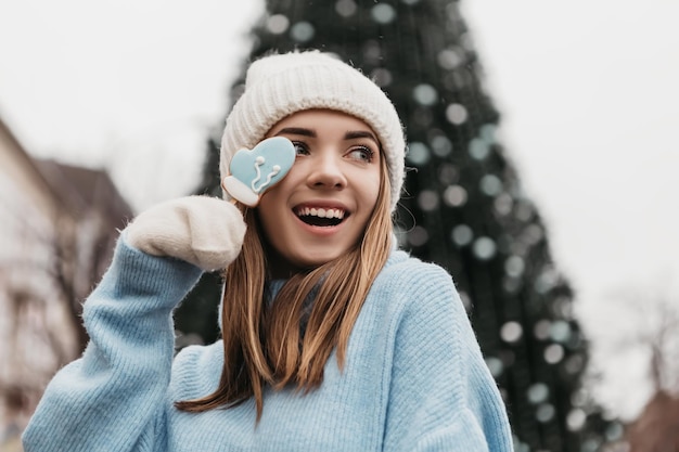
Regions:
[[313, 268], [347, 253], [366, 231], [380, 192], [376, 134], [354, 116], [310, 109], [282, 119], [270, 137], [290, 139], [297, 152], [287, 176], [257, 208], [278, 254], [270, 256], [272, 271]]

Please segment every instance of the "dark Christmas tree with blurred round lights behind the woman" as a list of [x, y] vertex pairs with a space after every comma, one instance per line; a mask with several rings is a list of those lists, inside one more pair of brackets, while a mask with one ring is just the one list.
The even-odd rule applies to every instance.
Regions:
[[[573, 294], [497, 139], [499, 114], [484, 92], [458, 2], [269, 0], [252, 38], [253, 60], [271, 51], [321, 49], [387, 92], [409, 146], [399, 241], [452, 274], [508, 404], [516, 450], [598, 450], [606, 423], [579, 390], [587, 351], [573, 318]], [[243, 77], [233, 85], [233, 100]], [[213, 141], [209, 153], [200, 192], [217, 194]], [[218, 277], [206, 281], [197, 298], [218, 298]], [[192, 317], [190, 305], [178, 312], [180, 327]], [[217, 332], [210, 326], [202, 334], [209, 340]]]

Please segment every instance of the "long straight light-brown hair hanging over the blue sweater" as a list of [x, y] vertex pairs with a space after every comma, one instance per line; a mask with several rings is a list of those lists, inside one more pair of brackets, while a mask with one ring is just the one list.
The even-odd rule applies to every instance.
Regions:
[[[294, 385], [304, 391], [317, 388], [335, 347], [337, 364], [344, 367], [349, 335], [392, 248], [386, 172], [386, 159], [381, 158], [380, 193], [356, 246], [331, 262], [292, 276], [273, 302], [267, 304], [265, 297], [266, 254], [256, 211], [243, 208], [247, 224], [243, 248], [225, 273], [225, 362], [219, 386], [204, 398], [177, 402], [178, 409], [203, 412], [230, 408], [254, 396], [259, 419], [266, 385], [274, 389]], [[312, 308], [305, 313], [309, 297], [313, 298]]]

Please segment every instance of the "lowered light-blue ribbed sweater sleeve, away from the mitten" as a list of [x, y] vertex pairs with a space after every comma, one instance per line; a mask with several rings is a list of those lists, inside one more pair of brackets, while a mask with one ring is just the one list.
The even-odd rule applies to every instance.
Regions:
[[403, 304], [394, 344], [385, 451], [512, 451], [499, 390], [450, 275], [412, 266], [390, 283]]

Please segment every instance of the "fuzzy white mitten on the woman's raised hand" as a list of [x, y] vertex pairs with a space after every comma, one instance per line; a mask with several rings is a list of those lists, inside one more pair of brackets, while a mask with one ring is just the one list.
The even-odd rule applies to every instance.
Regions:
[[226, 268], [243, 245], [245, 222], [232, 204], [187, 196], [153, 206], [124, 231], [127, 243], [154, 256], [170, 256], [206, 271]]

